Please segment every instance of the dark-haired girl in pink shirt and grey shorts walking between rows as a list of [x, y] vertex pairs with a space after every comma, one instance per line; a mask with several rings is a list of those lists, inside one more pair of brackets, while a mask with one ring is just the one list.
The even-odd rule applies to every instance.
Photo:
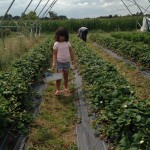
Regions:
[[[69, 34], [63, 27], [60, 27], [56, 30], [53, 49], [53, 69], [56, 68], [57, 72], [62, 72], [64, 78], [64, 93], [66, 96], [69, 96], [70, 91], [68, 89], [68, 74], [70, 69], [70, 57], [72, 58], [74, 65], [75, 58], [73, 49], [69, 42]], [[61, 94], [60, 86], [61, 79], [56, 80], [55, 95]]]

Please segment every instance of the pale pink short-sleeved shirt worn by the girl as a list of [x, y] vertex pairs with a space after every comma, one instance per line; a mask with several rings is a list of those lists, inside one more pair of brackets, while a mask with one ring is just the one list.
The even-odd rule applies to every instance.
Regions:
[[70, 62], [70, 51], [69, 47], [71, 47], [70, 42], [55, 42], [53, 49], [57, 50], [57, 61], [58, 62]]

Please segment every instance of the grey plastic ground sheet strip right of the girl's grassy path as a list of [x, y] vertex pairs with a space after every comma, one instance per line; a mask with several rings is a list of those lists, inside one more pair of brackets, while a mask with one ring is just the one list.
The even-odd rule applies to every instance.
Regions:
[[88, 115], [88, 106], [86, 100], [84, 99], [84, 94], [82, 92], [82, 78], [79, 76], [77, 70], [74, 71], [75, 74], [75, 85], [77, 88], [78, 101], [78, 118], [79, 123], [77, 125], [77, 143], [79, 150], [107, 150], [107, 145], [104, 141], [94, 135], [94, 130], [91, 127], [90, 122], [92, 119]]

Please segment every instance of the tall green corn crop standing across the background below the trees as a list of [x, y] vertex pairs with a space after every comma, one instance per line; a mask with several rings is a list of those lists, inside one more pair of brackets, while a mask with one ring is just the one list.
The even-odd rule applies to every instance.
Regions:
[[[24, 26], [24, 22], [20, 21], [19, 25]], [[142, 23], [142, 19], [140, 19]], [[41, 20], [39, 23], [43, 32], [55, 31], [58, 27], [63, 26], [68, 31], [75, 31], [81, 27], [86, 26], [89, 30], [103, 30], [103, 31], [128, 31], [137, 29], [137, 17], [115, 17], [115, 18], [87, 18], [87, 19], [67, 19], [67, 20]], [[4, 21], [3, 26], [14, 26], [12, 31], [16, 31], [15, 23]], [[28, 22], [28, 27], [33, 27], [33, 22]], [[21, 28], [19, 28], [21, 29]]]

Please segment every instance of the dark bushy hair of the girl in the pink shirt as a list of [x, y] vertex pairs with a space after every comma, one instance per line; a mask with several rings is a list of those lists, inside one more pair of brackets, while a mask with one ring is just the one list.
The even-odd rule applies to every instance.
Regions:
[[69, 33], [66, 29], [64, 29], [63, 27], [60, 27], [56, 30], [55, 33], [55, 41], [59, 41], [59, 36], [64, 36], [65, 37], [65, 41], [68, 42], [69, 41]]

